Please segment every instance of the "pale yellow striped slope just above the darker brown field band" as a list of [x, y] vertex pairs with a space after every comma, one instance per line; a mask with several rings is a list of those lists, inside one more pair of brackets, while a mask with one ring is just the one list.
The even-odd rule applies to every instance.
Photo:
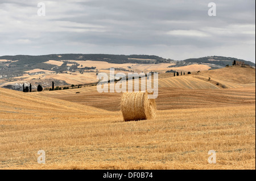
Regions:
[[[209, 80], [210, 78], [210, 80]], [[139, 81], [139, 83], [141, 83]], [[160, 88], [174, 89], [213, 90], [255, 86], [255, 69], [240, 66], [193, 72], [192, 74], [179, 75], [174, 73], [160, 73], [158, 85]], [[141, 86], [141, 85], [140, 85]], [[96, 86], [81, 87], [81, 89], [69, 89], [62, 91], [34, 92], [40, 95], [75, 94], [97, 91]]]

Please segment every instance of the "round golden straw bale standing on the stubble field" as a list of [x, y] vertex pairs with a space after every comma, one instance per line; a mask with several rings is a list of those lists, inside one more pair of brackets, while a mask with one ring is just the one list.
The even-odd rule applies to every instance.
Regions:
[[148, 99], [148, 92], [123, 93], [121, 111], [125, 121], [154, 119], [155, 99]]

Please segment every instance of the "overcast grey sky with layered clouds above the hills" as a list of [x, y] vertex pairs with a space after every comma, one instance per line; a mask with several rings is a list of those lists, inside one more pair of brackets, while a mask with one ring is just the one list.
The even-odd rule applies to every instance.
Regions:
[[[208, 14], [210, 2], [216, 16]], [[0, 0], [0, 41], [0, 56], [215, 55], [255, 62], [255, 1]]]

